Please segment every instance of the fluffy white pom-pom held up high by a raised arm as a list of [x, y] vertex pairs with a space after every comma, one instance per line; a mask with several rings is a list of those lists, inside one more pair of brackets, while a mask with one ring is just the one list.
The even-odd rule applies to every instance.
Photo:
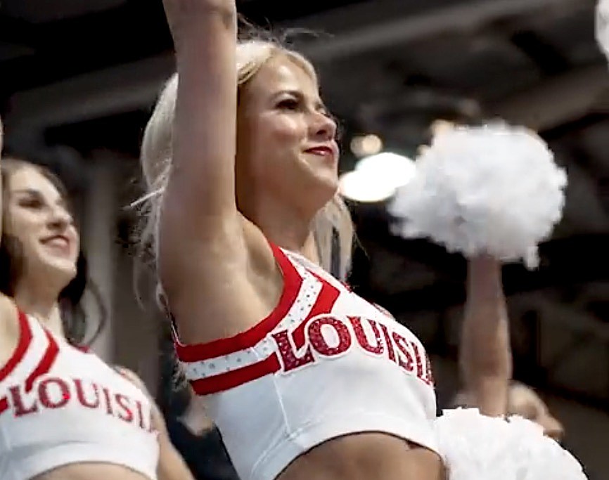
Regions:
[[562, 216], [567, 176], [546, 143], [503, 123], [437, 134], [388, 207], [394, 231], [466, 257], [539, 263], [537, 245]]

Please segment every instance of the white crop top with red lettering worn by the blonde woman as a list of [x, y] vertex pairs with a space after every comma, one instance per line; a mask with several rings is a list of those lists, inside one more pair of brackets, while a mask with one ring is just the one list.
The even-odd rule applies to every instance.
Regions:
[[175, 340], [241, 480], [275, 479], [307, 450], [356, 432], [437, 451], [421, 342], [319, 266], [271, 247], [284, 288], [267, 318], [207, 344]]

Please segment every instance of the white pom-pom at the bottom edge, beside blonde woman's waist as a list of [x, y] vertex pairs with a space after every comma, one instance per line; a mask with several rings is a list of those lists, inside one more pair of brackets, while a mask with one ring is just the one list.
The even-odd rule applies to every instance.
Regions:
[[586, 480], [573, 455], [522, 417], [444, 410], [435, 432], [448, 480]]

